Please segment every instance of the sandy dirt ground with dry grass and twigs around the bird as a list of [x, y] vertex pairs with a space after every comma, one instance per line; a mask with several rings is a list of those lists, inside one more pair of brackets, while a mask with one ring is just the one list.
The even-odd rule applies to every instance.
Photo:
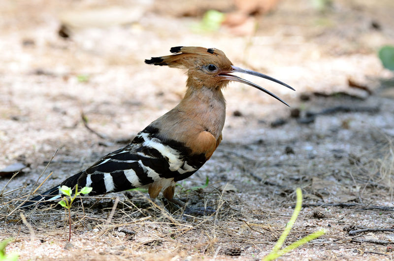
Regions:
[[[282, 0], [237, 30], [197, 30], [204, 11], [230, 12], [229, 2], [2, 0], [0, 169], [27, 166], [0, 177], [0, 240], [14, 239], [7, 253], [260, 260], [300, 187], [303, 208], [286, 244], [326, 234], [280, 259], [393, 260], [394, 75], [377, 50], [394, 43], [394, 1], [332, 0], [322, 11], [311, 0]], [[249, 86], [225, 90], [223, 142], [175, 194], [216, 213], [182, 216], [144, 191], [84, 198], [71, 210], [69, 245], [64, 209], [14, 211], [51, 172], [37, 192], [124, 146], [179, 102], [184, 72], [143, 62], [173, 46], [221, 49], [234, 65], [296, 89], [245, 76], [291, 108]], [[361, 228], [391, 231], [350, 232]]]

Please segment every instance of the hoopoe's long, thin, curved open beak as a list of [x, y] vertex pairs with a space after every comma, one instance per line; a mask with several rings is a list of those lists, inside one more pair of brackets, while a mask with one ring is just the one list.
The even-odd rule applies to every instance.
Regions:
[[276, 95], [274, 95], [270, 91], [265, 90], [263, 87], [261, 87], [261, 86], [259, 86], [257, 84], [254, 84], [253, 82], [247, 81], [245, 79], [242, 79], [241, 77], [238, 77], [238, 76], [230, 74], [232, 72], [242, 72], [242, 73], [247, 73], [247, 74], [255, 75], [255, 76], [258, 76], [258, 77], [262, 77], [264, 79], [268, 79], [270, 81], [273, 81], [273, 82], [279, 83], [279, 84], [281, 84], [283, 86], [286, 86], [287, 88], [292, 89], [293, 91], [296, 91], [290, 85], [287, 85], [286, 83], [281, 82], [281, 81], [279, 81], [279, 80], [277, 80], [275, 78], [272, 78], [272, 77], [270, 77], [268, 75], [265, 75], [265, 74], [257, 72], [257, 71], [252, 71], [252, 70], [248, 70], [248, 69], [242, 69], [242, 68], [239, 68], [239, 67], [236, 67], [236, 66], [233, 66], [233, 65], [231, 65], [231, 70], [230, 71], [222, 72], [222, 73], [219, 74], [219, 76], [222, 77], [222, 79], [229, 80], [229, 81], [235, 81], [235, 82], [241, 82], [241, 83], [253, 86], [256, 89], [259, 89], [260, 91], [263, 91], [264, 93], [272, 96], [273, 98], [276, 98], [277, 100], [283, 102], [287, 106], [289, 106], [289, 104], [287, 104], [285, 101], [283, 101], [281, 98], [277, 97]]

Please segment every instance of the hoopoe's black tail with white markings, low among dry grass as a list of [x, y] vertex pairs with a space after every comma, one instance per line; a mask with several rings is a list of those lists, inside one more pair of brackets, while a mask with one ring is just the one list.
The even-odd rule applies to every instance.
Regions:
[[47, 190], [46, 192], [42, 193], [39, 196], [34, 196], [33, 198], [29, 199], [25, 204], [20, 206], [19, 208], [29, 208], [37, 204], [50, 204], [54, 200], [59, 199], [62, 197], [62, 194], [60, 192], [60, 188], [65, 185], [71, 189], [75, 187], [75, 185], [78, 182], [78, 178], [81, 176], [82, 172], [79, 172], [69, 178], [67, 178], [65, 181], [62, 182], [62, 184]]

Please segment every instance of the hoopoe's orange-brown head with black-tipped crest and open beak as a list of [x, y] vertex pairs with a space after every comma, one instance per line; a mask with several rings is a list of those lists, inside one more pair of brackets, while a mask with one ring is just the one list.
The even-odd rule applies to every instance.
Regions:
[[168, 65], [169, 67], [187, 69], [188, 87], [200, 88], [204, 86], [212, 89], [222, 89], [230, 81], [236, 81], [253, 86], [288, 105], [281, 98], [265, 90], [263, 87], [231, 74], [233, 72], [241, 72], [274, 81], [294, 90], [286, 83], [268, 75], [232, 65], [225, 53], [219, 49], [177, 46], [172, 47], [170, 52], [173, 55], [152, 57], [150, 60], [145, 60], [145, 63], [148, 65]]

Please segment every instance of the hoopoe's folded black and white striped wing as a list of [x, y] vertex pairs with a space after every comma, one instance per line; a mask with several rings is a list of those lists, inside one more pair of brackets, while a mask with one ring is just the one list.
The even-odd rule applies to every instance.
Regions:
[[[152, 131], [153, 130], [153, 131]], [[164, 178], [179, 181], [191, 176], [205, 162], [205, 156], [173, 140], [155, 137], [146, 128], [124, 148], [114, 151], [86, 169], [78, 178], [79, 187], [92, 187], [90, 196], [119, 192], [149, 185]]]

